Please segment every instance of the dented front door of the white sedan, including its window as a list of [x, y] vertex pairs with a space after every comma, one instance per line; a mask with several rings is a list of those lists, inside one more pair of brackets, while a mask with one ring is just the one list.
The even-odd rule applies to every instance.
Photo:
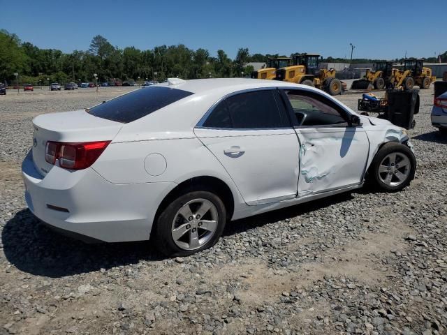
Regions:
[[349, 112], [322, 94], [300, 89], [282, 94], [301, 144], [298, 196], [360, 184], [369, 152], [362, 126], [349, 126]]

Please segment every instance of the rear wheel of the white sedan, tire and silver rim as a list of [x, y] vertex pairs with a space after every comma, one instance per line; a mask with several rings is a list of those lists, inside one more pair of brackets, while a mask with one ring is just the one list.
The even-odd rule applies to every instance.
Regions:
[[[205, 204], [206, 207], [210, 206], [210, 209], [203, 215], [205, 218], [203, 221], [207, 221], [210, 227], [214, 227], [213, 232], [203, 229], [206, 223], [203, 225], [200, 218], [196, 218], [198, 208], [203, 208], [201, 204]], [[186, 218], [184, 214], [180, 214], [181, 209], [184, 209], [185, 213], [188, 213], [186, 209], [189, 209], [189, 213], [192, 215]], [[216, 223], [211, 224], [213, 221]], [[170, 202], [158, 216], [154, 227], [154, 243], [157, 250], [166, 256], [191, 255], [214, 246], [221, 237], [225, 223], [226, 207], [216, 194], [210, 191], [185, 191]], [[174, 230], [179, 227], [184, 227], [184, 229], [177, 231], [178, 238], [175, 239]], [[181, 234], [183, 231], [184, 233]], [[197, 243], [191, 239], [193, 232], [197, 233]], [[200, 242], [200, 240], [203, 241]]]

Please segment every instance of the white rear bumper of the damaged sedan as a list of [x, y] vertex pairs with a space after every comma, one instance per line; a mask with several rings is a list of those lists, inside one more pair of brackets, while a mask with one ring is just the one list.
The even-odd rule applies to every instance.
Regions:
[[175, 186], [112, 184], [91, 168], [69, 171], [54, 166], [42, 177], [31, 152], [22, 163], [22, 177], [27, 205], [41, 221], [108, 242], [149, 239], [160, 198]]

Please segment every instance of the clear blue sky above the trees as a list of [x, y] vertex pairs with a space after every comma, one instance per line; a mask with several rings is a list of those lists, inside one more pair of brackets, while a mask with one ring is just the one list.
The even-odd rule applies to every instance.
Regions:
[[353, 43], [354, 58], [394, 59], [445, 52], [446, 13], [447, 0], [0, 0], [0, 28], [64, 52], [87, 50], [100, 34], [118, 47], [183, 43], [231, 58], [239, 47], [349, 57]]

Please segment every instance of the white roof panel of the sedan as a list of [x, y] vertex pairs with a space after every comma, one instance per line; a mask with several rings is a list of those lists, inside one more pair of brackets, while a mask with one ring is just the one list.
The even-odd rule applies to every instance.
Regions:
[[[166, 83], [160, 86], [166, 86]], [[258, 80], [246, 78], [212, 78], [185, 80], [179, 84], [168, 85], [174, 89], [182, 89], [194, 94], [202, 94], [216, 89], [223, 91], [242, 91], [244, 89], [257, 89], [263, 87], [301, 87], [300, 84], [281, 82], [277, 80]]]

